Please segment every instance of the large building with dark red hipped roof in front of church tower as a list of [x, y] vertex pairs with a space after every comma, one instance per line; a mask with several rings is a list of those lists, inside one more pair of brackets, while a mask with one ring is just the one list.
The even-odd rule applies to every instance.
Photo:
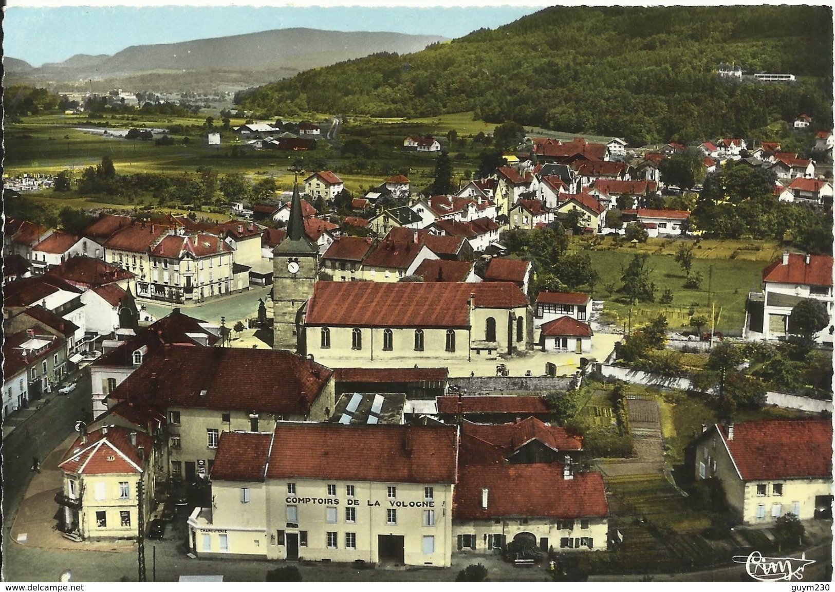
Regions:
[[221, 433], [325, 421], [334, 408], [332, 373], [286, 351], [166, 346], [107, 400], [164, 410], [170, 476], [191, 483], [208, 476]]

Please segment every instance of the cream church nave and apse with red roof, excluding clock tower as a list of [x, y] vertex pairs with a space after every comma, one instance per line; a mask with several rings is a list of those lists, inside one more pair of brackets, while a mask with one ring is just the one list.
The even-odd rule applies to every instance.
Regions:
[[[342, 306], [351, 302], [351, 307]], [[532, 346], [528, 299], [509, 282], [317, 282], [303, 326], [316, 360], [470, 359]]]

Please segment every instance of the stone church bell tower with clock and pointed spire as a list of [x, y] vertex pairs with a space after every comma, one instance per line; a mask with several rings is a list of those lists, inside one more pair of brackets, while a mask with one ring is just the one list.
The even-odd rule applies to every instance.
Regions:
[[272, 251], [273, 349], [305, 355], [304, 306], [313, 294], [319, 249], [305, 233], [299, 185], [293, 185], [287, 236]]

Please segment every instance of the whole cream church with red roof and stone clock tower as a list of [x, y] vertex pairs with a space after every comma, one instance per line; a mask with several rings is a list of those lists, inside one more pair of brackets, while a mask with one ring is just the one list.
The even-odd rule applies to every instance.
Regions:
[[316, 281], [319, 251], [304, 232], [297, 186], [286, 239], [273, 254], [275, 349], [344, 366], [469, 360], [534, 347], [533, 309], [512, 282]]

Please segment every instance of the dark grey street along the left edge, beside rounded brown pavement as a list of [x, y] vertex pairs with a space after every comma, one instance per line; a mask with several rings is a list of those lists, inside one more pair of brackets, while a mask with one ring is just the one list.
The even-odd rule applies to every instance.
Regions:
[[[92, 400], [89, 372], [76, 372], [72, 380], [78, 387], [68, 395], [47, 395], [49, 403], [34, 412], [3, 438], [3, 534], [8, 534], [13, 517], [32, 479], [32, 458], [39, 461], [63, 442], [75, 428], [75, 422], [89, 410]], [[44, 399], [33, 402], [42, 403]], [[3, 551], [9, 538], [3, 536]], [[4, 553], [5, 554], [5, 553]]]

